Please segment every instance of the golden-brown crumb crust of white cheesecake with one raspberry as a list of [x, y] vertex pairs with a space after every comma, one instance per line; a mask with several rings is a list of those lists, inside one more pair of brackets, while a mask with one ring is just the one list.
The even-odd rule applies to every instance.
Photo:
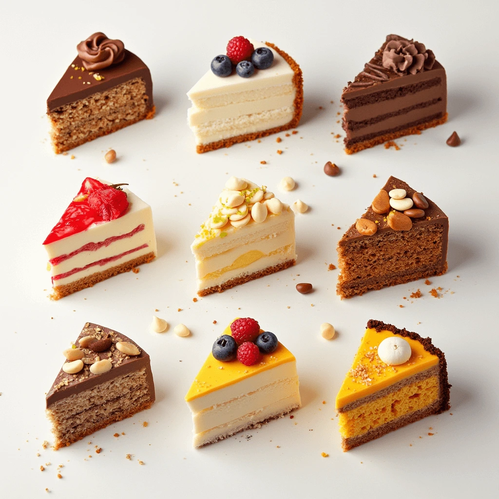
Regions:
[[227, 139], [218, 140], [217, 142], [210, 142], [209, 144], [201, 144], [196, 146], [196, 152], [199, 154], [207, 153], [209, 151], [214, 151], [215, 149], [221, 149], [222, 147], [231, 147], [234, 144], [240, 142], [247, 142], [250, 140], [260, 139], [261, 137], [266, 137], [267, 135], [272, 135], [274, 133], [283, 132], [284, 130], [289, 130], [291, 128], [296, 128], [300, 122], [301, 113], [303, 111], [303, 75], [300, 66], [296, 61], [286, 52], [276, 47], [273, 43], [268, 41], [265, 42], [267, 47], [273, 48], [291, 67], [294, 71], [293, 85], [296, 89], [296, 96], [294, 98], [294, 114], [291, 121], [285, 125], [281, 125], [274, 128], [269, 128], [267, 130], [262, 130], [260, 132], [246, 133], [243, 135], [237, 135], [236, 137], [229, 137]]

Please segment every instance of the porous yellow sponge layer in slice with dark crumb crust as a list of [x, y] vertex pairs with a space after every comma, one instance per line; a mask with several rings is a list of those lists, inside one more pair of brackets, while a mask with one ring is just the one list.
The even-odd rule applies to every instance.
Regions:
[[362, 435], [406, 414], [430, 405], [439, 397], [439, 378], [432, 376], [404, 386], [396, 392], [340, 413], [339, 430], [343, 438]]

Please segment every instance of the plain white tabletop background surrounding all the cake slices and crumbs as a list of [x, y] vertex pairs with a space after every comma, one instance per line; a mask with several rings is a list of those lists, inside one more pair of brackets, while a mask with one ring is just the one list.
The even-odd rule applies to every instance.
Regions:
[[[50, 497], [60, 498], [495, 495], [497, 5], [361, 0], [3, 4], [2, 496], [47, 497], [45, 488]], [[70, 152], [71, 160], [51, 151], [45, 100], [75, 56], [76, 44], [95, 31], [122, 39], [148, 64], [156, 118], [78, 147]], [[378, 146], [347, 156], [343, 137], [336, 142], [331, 135], [343, 136], [336, 123], [341, 89], [392, 32], [425, 43], [445, 66], [449, 122], [397, 140], [404, 146], [400, 151]], [[284, 139], [279, 145], [274, 135], [260, 144], [197, 155], [186, 125], [185, 94], [236, 35], [274, 42], [300, 64], [305, 104], [299, 133], [279, 134]], [[454, 130], [463, 142], [459, 148], [445, 143]], [[107, 165], [103, 155], [111, 147], [119, 160]], [[281, 156], [277, 148], [284, 151]], [[261, 160], [267, 164], [260, 165]], [[323, 174], [328, 160], [342, 168], [340, 177]], [[433, 298], [428, 292], [433, 286], [418, 281], [340, 301], [338, 271], [328, 271], [327, 264], [337, 263], [338, 239], [391, 174], [423, 191], [449, 216], [449, 271], [431, 279], [447, 292]], [[298, 263], [194, 303], [189, 246], [230, 175], [265, 184], [284, 202], [300, 198], [310, 205], [296, 218]], [[287, 175], [298, 188], [280, 193], [277, 185]], [[47, 298], [50, 278], [41, 243], [86, 176], [128, 182], [152, 206], [159, 258], [139, 274], [121, 274], [53, 302]], [[297, 282], [311, 282], [315, 291], [300, 295]], [[418, 288], [422, 298], [403, 299]], [[171, 329], [151, 334], [155, 308], [171, 329], [183, 322], [192, 336], [179, 338]], [[193, 450], [184, 395], [216, 336], [238, 315], [256, 318], [295, 354], [303, 407], [292, 420]], [[448, 360], [452, 409], [344, 454], [334, 399], [370, 318], [433, 338]], [[150, 353], [157, 401], [151, 410], [67, 449], [43, 450], [44, 440], [53, 442], [44, 394], [62, 364], [62, 350], [85, 321], [121, 331]], [[336, 327], [337, 339], [319, 336], [324, 321]], [[434, 436], [428, 436], [429, 427]], [[125, 435], [114, 438], [115, 432]], [[102, 448], [99, 455], [95, 445]], [[128, 453], [131, 461], [125, 459]], [[47, 462], [51, 465], [40, 472]], [[60, 480], [59, 464], [64, 465]]]

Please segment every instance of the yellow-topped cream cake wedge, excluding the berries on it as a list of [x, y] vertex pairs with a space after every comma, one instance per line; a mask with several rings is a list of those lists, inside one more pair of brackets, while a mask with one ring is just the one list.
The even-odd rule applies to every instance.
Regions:
[[[223, 334], [232, 336], [230, 325]], [[250, 366], [237, 359], [222, 362], [210, 353], [185, 400], [194, 447], [259, 427], [301, 406], [296, 359], [280, 342]]]

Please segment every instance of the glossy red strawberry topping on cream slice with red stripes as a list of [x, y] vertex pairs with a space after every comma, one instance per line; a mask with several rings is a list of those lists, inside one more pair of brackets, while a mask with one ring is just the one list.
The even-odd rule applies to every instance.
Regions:
[[86, 231], [92, 224], [115, 220], [124, 215], [127, 208], [128, 201], [123, 191], [87, 177], [43, 244], [48, 245]]

